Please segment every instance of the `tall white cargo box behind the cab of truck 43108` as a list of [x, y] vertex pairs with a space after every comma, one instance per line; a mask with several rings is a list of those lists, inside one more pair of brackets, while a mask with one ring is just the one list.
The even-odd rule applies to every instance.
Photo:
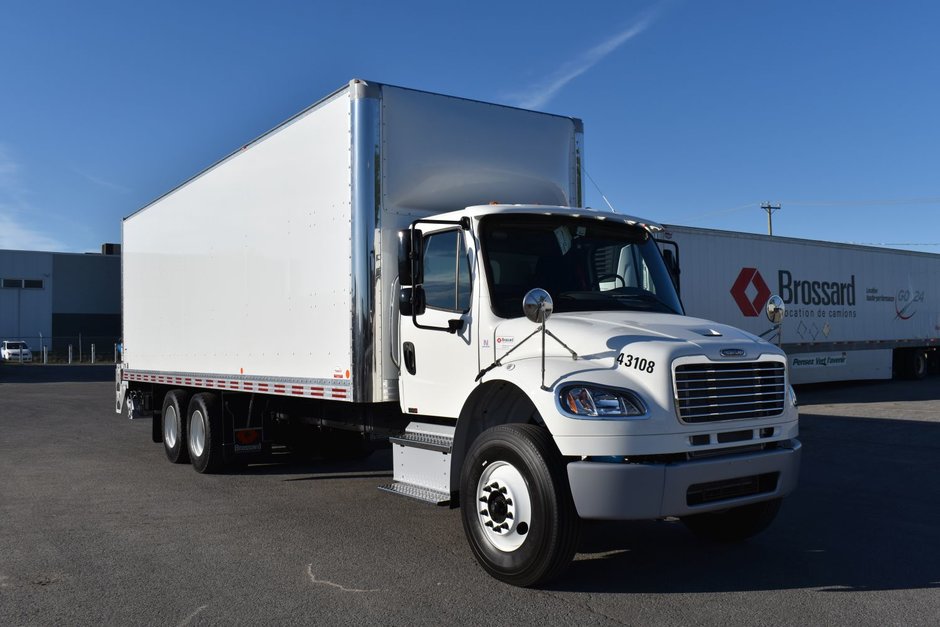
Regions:
[[352, 82], [124, 221], [131, 380], [395, 400], [397, 231], [578, 206], [580, 143], [576, 119]]

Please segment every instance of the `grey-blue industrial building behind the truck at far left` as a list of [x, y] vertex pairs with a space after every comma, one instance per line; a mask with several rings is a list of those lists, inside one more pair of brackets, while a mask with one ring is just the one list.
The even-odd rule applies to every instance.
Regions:
[[94, 254], [0, 250], [0, 340], [110, 359], [121, 335], [120, 246]]

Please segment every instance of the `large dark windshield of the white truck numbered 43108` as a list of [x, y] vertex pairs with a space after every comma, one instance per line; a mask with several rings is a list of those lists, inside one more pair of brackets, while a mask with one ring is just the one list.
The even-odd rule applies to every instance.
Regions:
[[491, 215], [480, 224], [493, 311], [522, 316], [541, 287], [555, 312], [682, 313], [656, 242], [646, 229], [597, 218]]

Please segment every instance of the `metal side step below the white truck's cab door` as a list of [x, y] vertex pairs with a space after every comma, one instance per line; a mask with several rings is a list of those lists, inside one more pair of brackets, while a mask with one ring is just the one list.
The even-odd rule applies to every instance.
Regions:
[[395, 480], [379, 489], [425, 503], [448, 505], [454, 431], [455, 427], [412, 422], [402, 435], [389, 438]]

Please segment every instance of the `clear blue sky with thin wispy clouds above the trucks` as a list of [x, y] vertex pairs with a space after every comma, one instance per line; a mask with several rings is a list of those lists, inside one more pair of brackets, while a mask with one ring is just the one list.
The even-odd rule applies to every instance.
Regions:
[[[577, 116], [624, 213], [940, 253], [940, 3], [5, 2], [0, 248], [121, 218], [350, 78]], [[588, 204], [604, 201], [590, 181]]]

